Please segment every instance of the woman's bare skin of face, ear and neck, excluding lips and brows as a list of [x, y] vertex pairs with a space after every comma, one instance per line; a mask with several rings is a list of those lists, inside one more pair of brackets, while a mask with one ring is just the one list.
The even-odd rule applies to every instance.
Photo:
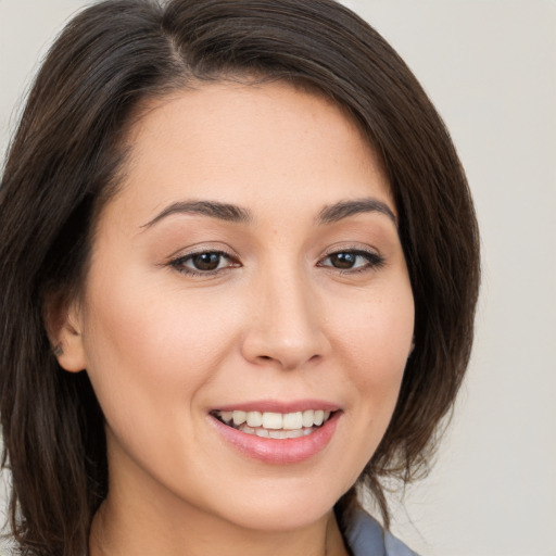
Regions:
[[[348, 554], [332, 507], [392, 416], [414, 301], [391, 216], [319, 216], [371, 199], [395, 218], [381, 163], [342, 110], [281, 84], [203, 85], [148, 109], [58, 333], [61, 365], [87, 369], [106, 418], [91, 554]], [[161, 215], [191, 200], [250, 218]], [[191, 252], [227, 255], [191, 275]], [[210, 416], [305, 399], [340, 413], [294, 464], [240, 453]]]

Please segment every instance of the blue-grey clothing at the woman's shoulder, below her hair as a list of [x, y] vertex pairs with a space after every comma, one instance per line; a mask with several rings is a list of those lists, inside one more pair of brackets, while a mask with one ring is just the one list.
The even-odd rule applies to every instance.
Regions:
[[345, 538], [353, 556], [417, 556], [363, 510], [354, 514]]

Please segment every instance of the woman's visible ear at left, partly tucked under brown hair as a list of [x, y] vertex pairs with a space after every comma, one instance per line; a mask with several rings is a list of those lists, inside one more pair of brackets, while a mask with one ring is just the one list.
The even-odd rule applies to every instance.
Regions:
[[83, 342], [83, 309], [79, 302], [52, 295], [45, 305], [45, 325], [60, 366], [70, 372], [79, 372], [87, 368]]

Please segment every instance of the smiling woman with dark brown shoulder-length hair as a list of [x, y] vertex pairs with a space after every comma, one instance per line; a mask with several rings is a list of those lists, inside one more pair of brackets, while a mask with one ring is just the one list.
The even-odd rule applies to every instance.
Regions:
[[0, 189], [23, 553], [412, 554], [468, 362], [478, 233], [442, 122], [330, 0], [111, 0], [30, 92]]

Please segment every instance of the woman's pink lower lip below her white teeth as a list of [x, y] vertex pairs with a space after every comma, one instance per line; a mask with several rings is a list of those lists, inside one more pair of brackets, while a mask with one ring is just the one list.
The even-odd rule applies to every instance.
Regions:
[[296, 439], [268, 439], [248, 434], [224, 425], [212, 415], [210, 418], [224, 439], [243, 455], [266, 464], [288, 465], [305, 462], [323, 451], [332, 439], [341, 412], [336, 412], [314, 432]]

